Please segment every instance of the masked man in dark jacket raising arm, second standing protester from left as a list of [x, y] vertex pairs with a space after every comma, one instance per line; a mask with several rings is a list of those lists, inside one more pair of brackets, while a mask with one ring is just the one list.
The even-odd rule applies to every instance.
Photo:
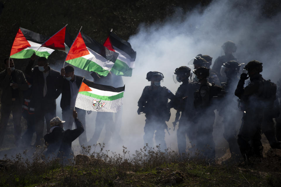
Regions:
[[34, 88], [32, 89], [31, 99], [36, 103], [35, 121], [37, 122], [37, 136], [35, 144], [40, 145], [40, 139], [44, 131], [44, 118], [48, 132], [50, 130], [50, 120], [56, 116], [56, 98], [61, 94], [57, 84], [60, 73], [49, 67], [47, 59], [44, 57], [38, 58], [38, 66], [35, 66], [32, 70], [34, 61], [35, 54], [31, 56], [25, 73], [30, 76], [30, 83]]

